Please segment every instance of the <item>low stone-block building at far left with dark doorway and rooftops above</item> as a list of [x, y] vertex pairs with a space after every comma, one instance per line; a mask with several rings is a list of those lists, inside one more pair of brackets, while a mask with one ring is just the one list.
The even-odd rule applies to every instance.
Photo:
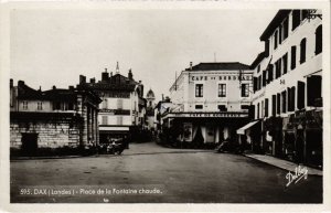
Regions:
[[10, 147], [23, 155], [98, 143], [99, 97], [83, 85], [42, 92], [10, 79]]

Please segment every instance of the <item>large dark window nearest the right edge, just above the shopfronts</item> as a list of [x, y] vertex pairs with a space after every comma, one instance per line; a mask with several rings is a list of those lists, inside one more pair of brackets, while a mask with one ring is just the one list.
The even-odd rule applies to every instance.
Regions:
[[317, 99], [322, 97], [322, 77], [312, 75], [307, 78], [307, 105], [316, 106]]

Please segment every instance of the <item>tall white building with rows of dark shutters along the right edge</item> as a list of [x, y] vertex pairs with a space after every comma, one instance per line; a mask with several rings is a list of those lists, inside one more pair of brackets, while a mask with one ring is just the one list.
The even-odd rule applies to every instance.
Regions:
[[321, 11], [279, 10], [259, 39], [265, 51], [252, 64], [255, 118], [261, 121], [256, 146], [321, 167]]

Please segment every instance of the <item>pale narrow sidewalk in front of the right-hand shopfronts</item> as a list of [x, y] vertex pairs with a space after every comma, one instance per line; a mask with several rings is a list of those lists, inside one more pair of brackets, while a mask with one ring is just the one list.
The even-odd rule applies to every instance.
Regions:
[[[253, 158], [255, 160], [259, 160], [261, 162], [278, 167], [280, 169], [285, 169], [291, 172], [295, 172], [296, 167], [298, 167], [297, 163], [295, 162], [290, 162], [287, 160], [282, 160], [279, 158], [275, 158], [273, 156], [265, 156], [265, 155], [254, 155], [254, 153], [247, 153], [244, 155], [248, 158]], [[302, 167], [302, 164], [300, 164]], [[322, 170], [318, 170], [318, 169], [313, 169], [307, 166], [303, 166], [308, 169], [308, 174], [312, 174], [312, 175], [323, 175], [323, 171]]]

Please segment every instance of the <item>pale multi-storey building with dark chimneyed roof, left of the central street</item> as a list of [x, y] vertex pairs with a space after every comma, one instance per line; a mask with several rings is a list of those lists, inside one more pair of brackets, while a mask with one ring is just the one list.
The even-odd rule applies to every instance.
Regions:
[[143, 85], [136, 82], [131, 70], [128, 76], [119, 73], [117, 64], [116, 73], [102, 73], [102, 81], [90, 78], [87, 83], [82, 76], [84, 85], [99, 95], [103, 102], [99, 105], [99, 134], [100, 142], [107, 143], [111, 138], [120, 138], [137, 132], [142, 126], [145, 117]]

